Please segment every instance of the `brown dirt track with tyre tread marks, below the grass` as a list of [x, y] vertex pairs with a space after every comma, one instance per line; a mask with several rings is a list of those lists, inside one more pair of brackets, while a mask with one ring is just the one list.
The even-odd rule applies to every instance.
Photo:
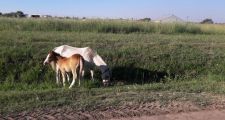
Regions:
[[117, 107], [99, 107], [92, 111], [73, 110], [70, 107], [35, 109], [16, 114], [0, 116], [3, 119], [47, 119], [47, 120], [221, 120], [225, 119], [225, 102], [199, 107], [190, 102], [172, 101], [166, 106], [159, 102], [141, 103], [138, 105], [123, 105]]

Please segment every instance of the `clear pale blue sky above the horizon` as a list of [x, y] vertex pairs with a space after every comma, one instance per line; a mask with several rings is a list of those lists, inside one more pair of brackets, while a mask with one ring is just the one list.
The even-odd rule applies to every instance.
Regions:
[[225, 0], [0, 0], [0, 12], [100, 18], [161, 18], [176, 15], [225, 22]]

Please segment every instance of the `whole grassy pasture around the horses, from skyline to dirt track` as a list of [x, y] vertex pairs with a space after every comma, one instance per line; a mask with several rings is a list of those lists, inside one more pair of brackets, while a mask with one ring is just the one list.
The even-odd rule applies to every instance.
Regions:
[[[57, 86], [43, 61], [63, 44], [96, 50], [112, 70], [113, 85], [103, 87], [96, 69], [94, 82], [87, 75], [79, 88]], [[2, 114], [174, 100], [205, 107], [214, 100], [208, 94], [225, 93], [224, 25], [0, 18], [0, 45]]]

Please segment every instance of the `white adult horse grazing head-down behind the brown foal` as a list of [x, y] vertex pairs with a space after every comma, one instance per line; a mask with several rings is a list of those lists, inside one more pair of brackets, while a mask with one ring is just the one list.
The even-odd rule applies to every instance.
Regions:
[[[77, 48], [77, 47], [72, 47], [69, 45], [61, 45], [58, 47], [55, 47], [53, 49], [54, 52], [60, 54], [63, 57], [70, 57], [73, 54], [80, 54], [85, 62], [84, 62], [84, 68], [89, 69], [91, 72], [91, 77], [92, 80], [94, 79], [94, 72], [93, 68], [94, 65], [96, 65], [102, 73], [102, 82], [104, 85], [108, 85], [111, 77], [111, 71], [107, 64], [103, 61], [103, 59], [91, 48], [89, 47], [84, 47], [84, 48]], [[49, 56], [49, 55], [48, 55]], [[44, 63], [48, 61], [49, 57], [46, 57]], [[53, 63], [52, 66], [55, 66]], [[84, 75], [84, 71], [82, 72], [82, 76]]]

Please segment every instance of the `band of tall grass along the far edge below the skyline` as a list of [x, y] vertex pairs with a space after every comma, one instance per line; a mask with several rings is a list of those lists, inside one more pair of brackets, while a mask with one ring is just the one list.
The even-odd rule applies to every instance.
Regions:
[[98, 33], [225, 34], [223, 25], [161, 24], [122, 20], [0, 18], [0, 31], [73, 31]]

